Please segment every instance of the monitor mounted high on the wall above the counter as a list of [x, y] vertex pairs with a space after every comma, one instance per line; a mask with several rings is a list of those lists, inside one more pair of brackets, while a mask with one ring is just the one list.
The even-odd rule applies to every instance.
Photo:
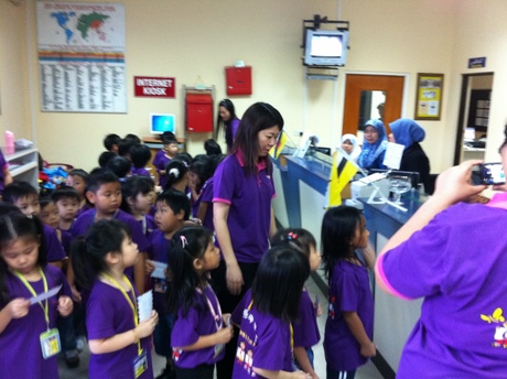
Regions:
[[306, 29], [304, 65], [344, 66], [347, 59], [348, 31]]

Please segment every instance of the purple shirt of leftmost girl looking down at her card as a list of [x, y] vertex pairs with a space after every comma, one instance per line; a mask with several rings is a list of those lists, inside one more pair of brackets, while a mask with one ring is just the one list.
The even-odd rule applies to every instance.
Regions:
[[[58, 297], [71, 296], [68, 286], [62, 270], [47, 264], [43, 272], [47, 280], [47, 288], [51, 290], [63, 284], [58, 294], [47, 300], [50, 311], [50, 327], [56, 327], [58, 317]], [[42, 279], [37, 282], [30, 282], [35, 293], [44, 292]], [[26, 286], [10, 271], [6, 272], [4, 285], [11, 300], [23, 297], [30, 299], [33, 295]], [[45, 302], [42, 302], [44, 305]], [[0, 302], [0, 308], [7, 304]], [[44, 359], [41, 349], [41, 333], [47, 331], [44, 313], [39, 303], [29, 308], [24, 317], [13, 318], [0, 334], [0, 378], [58, 378], [57, 356]], [[62, 336], [60, 336], [62, 338]]]

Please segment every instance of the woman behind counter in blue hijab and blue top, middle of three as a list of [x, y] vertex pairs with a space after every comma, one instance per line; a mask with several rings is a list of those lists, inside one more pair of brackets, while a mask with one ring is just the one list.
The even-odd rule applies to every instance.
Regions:
[[364, 170], [386, 169], [382, 164], [386, 155], [387, 137], [386, 128], [380, 120], [368, 120], [365, 123], [365, 140], [363, 150], [357, 160]]

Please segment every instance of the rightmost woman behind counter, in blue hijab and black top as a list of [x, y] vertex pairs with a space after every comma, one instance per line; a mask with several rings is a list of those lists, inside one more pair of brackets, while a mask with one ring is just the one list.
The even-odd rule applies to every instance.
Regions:
[[401, 156], [400, 171], [418, 172], [420, 182], [424, 188], [429, 188], [430, 160], [422, 150], [419, 142], [427, 136], [424, 129], [411, 119], [399, 119], [389, 123], [391, 133], [389, 142], [402, 144], [404, 147]]

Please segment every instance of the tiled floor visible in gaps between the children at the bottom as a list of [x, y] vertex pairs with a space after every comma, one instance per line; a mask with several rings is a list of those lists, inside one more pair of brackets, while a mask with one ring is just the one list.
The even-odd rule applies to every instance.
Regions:
[[[324, 379], [325, 378], [325, 359], [324, 359], [324, 348], [322, 346], [322, 339], [324, 336], [324, 325], [325, 325], [325, 320], [326, 320], [326, 314], [327, 314], [325, 312], [327, 310], [327, 301], [326, 301], [326, 296], [322, 294], [322, 292], [319, 290], [319, 288], [316, 286], [315, 282], [312, 279], [309, 279], [306, 283], [306, 289], [311, 293], [312, 299], [315, 299], [315, 294], [319, 293], [319, 296], [322, 302], [323, 315], [319, 317], [319, 329], [321, 331], [321, 342], [319, 343], [319, 345], [314, 346], [313, 351], [315, 355], [315, 358], [314, 358], [315, 371], [319, 375], [319, 378]], [[60, 361], [60, 378], [61, 379], [88, 378], [88, 370], [87, 370], [88, 358], [89, 358], [88, 350], [83, 351], [80, 354], [79, 367], [75, 369], [68, 369], [62, 359]], [[165, 359], [153, 354], [153, 371], [155, 376], [162, 371], [164, 366], [165, 366]], [[382, 378], [382, 376], [378, 372], [376, 367], [370, 362], [360, 367], [356, 373], [356, 379], [380, 379], [380, 378]]]

